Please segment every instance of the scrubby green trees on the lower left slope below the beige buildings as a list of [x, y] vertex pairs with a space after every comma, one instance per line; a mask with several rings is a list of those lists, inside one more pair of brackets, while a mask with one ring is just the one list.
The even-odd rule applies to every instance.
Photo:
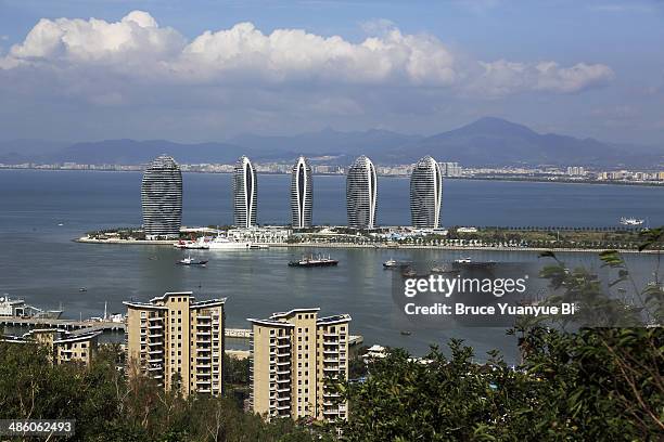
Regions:
[[152, 379], [128, 379], [118, 350], [102, 346], [85, 367], [52, 365], [34, 344], [0, 342], [0, 419], [76, 419], [72, 440], [93, 442], [324, 440], [290, 419], [266, 422], [230, 398], [184, 399]]

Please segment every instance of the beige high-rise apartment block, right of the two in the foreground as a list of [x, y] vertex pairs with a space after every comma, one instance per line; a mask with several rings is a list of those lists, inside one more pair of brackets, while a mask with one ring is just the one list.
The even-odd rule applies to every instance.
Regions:
[[318, 317], [319, 310], [295, 309], [248, 320], [254, 413], [268, 419], [347, 419], [347, 403], [339, 401], [325, 380], [348, 379], [350, 316]]

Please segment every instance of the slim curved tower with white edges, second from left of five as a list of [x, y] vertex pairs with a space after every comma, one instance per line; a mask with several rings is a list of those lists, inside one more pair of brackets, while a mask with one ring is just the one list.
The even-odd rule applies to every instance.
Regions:
[[233, 219], [237, 227], [256, 225], [257, 187], [256, 169], [243, 155], [233, 170]]

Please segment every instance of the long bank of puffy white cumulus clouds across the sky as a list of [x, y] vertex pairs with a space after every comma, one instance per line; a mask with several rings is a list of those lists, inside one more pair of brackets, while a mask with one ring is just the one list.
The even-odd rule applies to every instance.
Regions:
[[[379, 24], [380, 35], [361, 42], [302, 29], [266, 35], [251, 23], [208, 30], [189, 41], [142, 11], [115, 23], [41, 20], [0, 57], [0, 73], [27, 70], [63, 82], [103, 77], [111, 83], [176, 86], [399, 86], [487, 95], [576, 93], [613, 78], [602, 64], [468, 60], [434, 36], [405, 35], [392, 23]], [[122, 103], [119, 93], [105, 90], [94, 100]]]

